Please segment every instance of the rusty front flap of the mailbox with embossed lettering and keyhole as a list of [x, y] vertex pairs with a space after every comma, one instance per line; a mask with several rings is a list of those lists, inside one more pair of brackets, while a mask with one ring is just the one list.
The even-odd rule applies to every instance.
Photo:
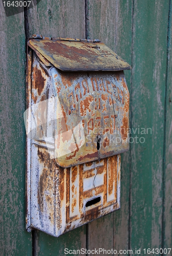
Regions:
[[50, 76], [58, 165], [70, 167], [128, 150], [129, 93], [123, 71], [62, 72], [51, 67]]

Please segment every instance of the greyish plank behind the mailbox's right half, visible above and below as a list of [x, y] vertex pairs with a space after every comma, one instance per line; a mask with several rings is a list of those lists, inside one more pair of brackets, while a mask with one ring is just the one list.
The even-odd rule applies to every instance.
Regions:
[[[88, 1], [88, 36], [98, 38], [131, 63], [132, 2]], [[125, 72], [130, 90], [130, 71]], [[88, 226], [88, 248], [128, 249], [130, 153], [121, 154], [121, 209]], [[113, 236], [113, 239], [112, 239]], [[96, 238], [96, 239], [95, 239]]]

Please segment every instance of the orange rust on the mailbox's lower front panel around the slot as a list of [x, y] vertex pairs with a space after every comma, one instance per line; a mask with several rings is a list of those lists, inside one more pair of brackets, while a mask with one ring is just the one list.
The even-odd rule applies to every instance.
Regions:
[[[67, 193], [67, 195], [68, 195], [67, 196], [67, 215], [66, 215], [67, 216], [67, 219], [66, 219], [67, 226], [75, 221], [76, 222], [79, 221], [82, 224], [92, 221], [93, 219], [100, 217], [102, 209], [104, 209], [104, 212], [106, 212], [107, 206], [112, 205], [112, 207], [113, 207], [113, 205], [115, 205], [115, 207], [113, 207], [113, 209], [117, 208], [116, 196], [115, 196], [114, 200], [107, 202], [107, 193], [109, 193], [109, 195], [111, 195], [112, 192], [114, 193], [114, 179], [115, 179], [115, 195], [117, 194], [117, 183], [116, 183], [116, 181], [117, 181], [117, 156], [113, 156], [113, 157], [109, 158], [109, 168], [110, 168], [110, 172], [111, 172], [111, 174], [110, 174], [111, 177], [109, 177], [109, 179], [110, 179], [110, 182], [108, 184], [109, 186], [107, 186], [107, 158], [104, 158], [103, 162], [104, 162], [104, 164], [100, 165], [100, 166], [97, 166], [97, 165], [101, 164], [102, 160], [101, 161], [97, 160], [94, 162], [88, 162], [85, 164], [78, 165], [79, 166], [79, 195], [77, 192], [78, 190], [75, 189], [75, 185], [73, 183], [71, 189], [74, 192], [74, 194], [76, 195], [76, 198], [75, 198], [75, 196], [73, 197], [71, 209], [69, 209], [68, 205], [69, 205], [69, 201], [70, 201], [70, 194], [69, 194], [69, 192]], [[93, 163], [95, 163], [95, 165]], [[83, 179], [88, 179], [90, 177], [95, 176], [95, 172], [94, 172], [95, 167], [94, 166], [96, 166], [97, 175], [99, 175], [99, 174], [103, 175], [103, 177], [104, 177], [103, 184], [96, 188], [94, 187], [89, 190], [83, 191]], [[71, 167], [71, 168], [73, 170], [74, 167]], [[86, 168], [86, 170], [84, 170], [85, 168]], [[69, 180], [69, 177], [70, 177], [69, 173], [70, 172], [68, 171], [67, 180]], [[77, 175], [77, 172], [76, 172], [76, 175]], [[75, 182], [75, 180], [76, 180], [76, 178], [74, 178], [72, 180], [72, 182]], [[67, 185], [67, 187], [69, 187], [69, 184]], [[107, 192], [107, 190], [108, 190], [108, 192]], [[68, 191], [69, 191], [69, 189], [68, 189]], [[97, 204], [89, 206], [87, 208], [83, 208], [84, 207], [84, 205], [83, 205], [84, 199], [87, 198], [89, 200], [90, 198], [93, 198], [93, 196], [97, 197], [100, 194], [101, 195], [103, 194], [103, 196], [102, 196], [103, 205], [97, 203]], [[72, 212], [74, 211], [77, 200], [79, 200], [78, 215], [70, 218], [70, 210]], [[108, 211], [106, 213], [108, 213]]]

